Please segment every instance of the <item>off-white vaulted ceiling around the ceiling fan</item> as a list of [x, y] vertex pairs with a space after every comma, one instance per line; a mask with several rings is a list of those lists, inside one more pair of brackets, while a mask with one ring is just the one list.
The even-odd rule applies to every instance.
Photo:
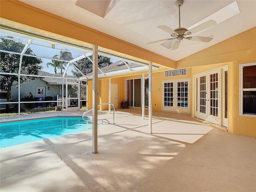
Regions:
[[179, 27], [175, 0], [20, 1], [175, 61], [256, 26], [255, 0], [184, 0], [180, 7], [181, 27], [191, 29], [208, 20], [217, 24], [194, 34], [212, 36], [212, 41], [184, 39], [178, 49], [172, 50], [162, 46], [162, 42], [146, 43], [170, 38], [169, 33], [157, 26], [166, 25], [173, 30]]

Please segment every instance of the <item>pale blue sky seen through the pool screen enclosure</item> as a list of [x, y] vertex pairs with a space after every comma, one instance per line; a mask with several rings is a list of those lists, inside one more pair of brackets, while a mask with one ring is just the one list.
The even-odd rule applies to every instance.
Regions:
[[[4, 34], [4, 33], [0, 33], [0, 35], [8, 36], [8, 34]], [[18, 36], [13, 36], [13, 37], [15, 39], [21, 40], [23, 44], [26, 44], [26, 42], [28, 42], [28, 39], [26, 39], [26, 38], [22, 38], [22, 37], [18, 37]], [[76, 57], [81, 56], [82, 54], [86, 53], [84, 50], [65, 48], [65, 47], [57, 46], [57, 45], [55, 45], [55, 49], [53, 49], [50, 44], [44, 43], [44, 42], [39, 42], [36, 40], [32, 41], [30, 48], [33, 50], [33, 52], [34, 52], [34, 54], [36, 54], [36, 56], [38, 56], [39, 58], [42, 58], [42, 61], [43, 61], [43, 63], [41, 64], [43, 66], [42, 71], [52, 73], [52, 74], [54, 74], [54, 67], [52, 67], [52, 66], [47, 67], [46, 64], [48, 62], [52, 63], [52, 60], [50, 58], [52, 58], [52, 56], [54, 56], [56, 54], [58, 55], [60, 53], [60, 50], [68, 49], [68, 51], [70, 51], [72, 53], [73, 58], [76, 58]], [[49, 59], [46, 59], [46, 58], [49, 58]], [[111, 61], [114, 63], [118, 60], [111, 58]], [[68, 68], [68, 71], [67, 71], [68, 75], [72, 75], [72, 72], [71, 72], [72, 69], [74, 69], [74, 67], [72, 65], [70, 65]], [[58, 72], [60, 72], [60, 69], [57, 69], [57, 73]], [[63, 70], [63, 72], [64, 72], [64, 70]]]

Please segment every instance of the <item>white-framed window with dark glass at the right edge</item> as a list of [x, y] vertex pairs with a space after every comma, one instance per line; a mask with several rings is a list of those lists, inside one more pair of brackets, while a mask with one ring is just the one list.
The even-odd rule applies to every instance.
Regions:
[[240, 115], [256, 115], [256, 63], [240, 65]]

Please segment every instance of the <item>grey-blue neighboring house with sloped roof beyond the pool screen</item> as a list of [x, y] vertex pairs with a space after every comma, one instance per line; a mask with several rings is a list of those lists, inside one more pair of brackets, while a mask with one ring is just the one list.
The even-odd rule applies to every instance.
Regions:
[[[62, 77], [59, 74], [51, 74], [44, 71], [39, 71], [40, 76], [44, 77], [42, 80], [37, 78], [34, 81], [21, 84], [20, 98], [28, 96], [31, 92], [35, 97], [42, 97], [43, 100], [46, 96], [52, 96], [53, 100], [56, 100], [57, 95], [62, 96], [62, 79], [56, 77]], [[50, 77], [49, 77], [50, 76]], [[74, 78], [74, 76], [68, 76], [67, 78]], [[68, 79], [68, 96], [77, 97], [75, 90], [72, 89], [71, 84], [74, 82], [72, 79]], [[11, 99], [18, 98], [18, 85], [11, 88]], [[64, 96], [66, 96], [66, 80], [64, 81]]]

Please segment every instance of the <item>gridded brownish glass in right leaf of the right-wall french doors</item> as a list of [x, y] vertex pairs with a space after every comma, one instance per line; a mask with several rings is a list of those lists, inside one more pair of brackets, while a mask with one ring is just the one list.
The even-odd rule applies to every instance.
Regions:
[[210, 74], [210, 114], [218, 116], [218, 73]]

